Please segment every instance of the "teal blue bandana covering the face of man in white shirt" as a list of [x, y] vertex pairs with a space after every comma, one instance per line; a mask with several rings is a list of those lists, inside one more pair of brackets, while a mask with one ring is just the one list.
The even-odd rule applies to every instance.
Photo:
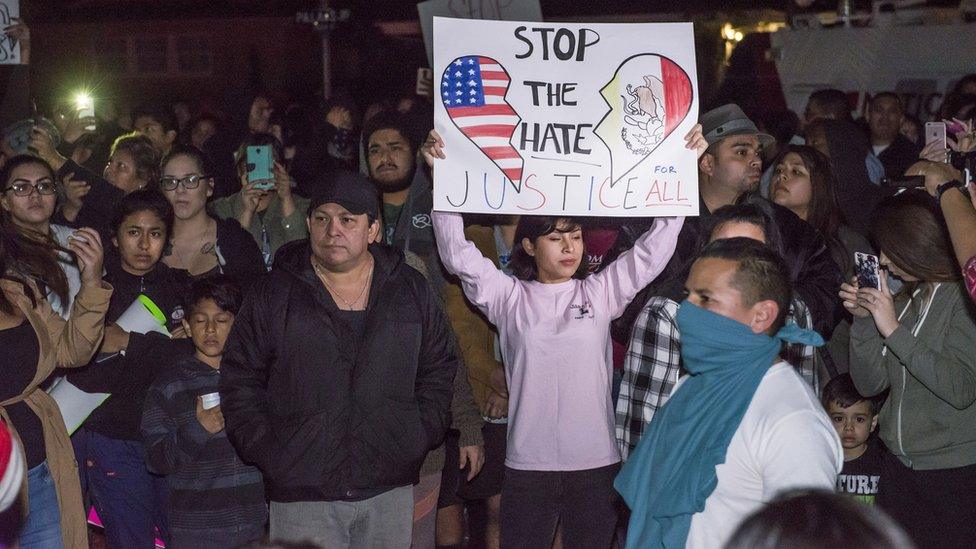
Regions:
[[654, 416], [614, 486], [631, 509], [627, 547], [684, 547], [691, 517], [715, 490], [766, 370], [784, 341], [821, 346], [823, 338], [790, 324], [776, 337], [685, 300], [676, 317], [690, 376]]

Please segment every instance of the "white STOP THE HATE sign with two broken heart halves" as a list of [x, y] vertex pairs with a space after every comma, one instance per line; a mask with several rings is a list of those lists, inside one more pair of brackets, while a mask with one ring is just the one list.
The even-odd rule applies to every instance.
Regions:
[[698, 214], [690, 23], [434, 19], [437, 210]]

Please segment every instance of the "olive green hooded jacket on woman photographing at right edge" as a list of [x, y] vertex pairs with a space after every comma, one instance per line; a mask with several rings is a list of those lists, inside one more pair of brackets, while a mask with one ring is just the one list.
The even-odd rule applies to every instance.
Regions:
[[896, 297], [895, 312], [902, 317], [887, 339], [870, 317], [854, 320], [854, 385], [865, 396], [891, 389], [880, 435], [905, 465], [925, 470], [976, 464], [976, 312], [961, 283], [940, 284], [916, 336], [924, 302], [906, 311], [908, 301]]

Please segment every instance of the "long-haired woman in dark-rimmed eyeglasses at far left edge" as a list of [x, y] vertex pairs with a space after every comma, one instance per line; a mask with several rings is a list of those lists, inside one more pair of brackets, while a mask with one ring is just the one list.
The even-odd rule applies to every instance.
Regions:
[[[58, 197], [56, 176], [47, 162], [26, 154], [14, 156], [0, 170], [0, 184], [4, 189], [0, 207], [10, 227], [38, 242], [54, 242], [67, 249], [68, 237], [74, 229], [51, 223]], [[70, 254], [56, 253], [68, 282], [67, 291], [61, 295], [49, 288], [47, 299], [58, 314], [67, 318], [74, 296], [81, 288], [81, 273]]]

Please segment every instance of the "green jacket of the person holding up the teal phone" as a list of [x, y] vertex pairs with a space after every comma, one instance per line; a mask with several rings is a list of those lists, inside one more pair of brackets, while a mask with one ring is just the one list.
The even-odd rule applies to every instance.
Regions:
[[[221, 219], [237, 219], [244, 211], [243, 194], [238, 191], [230, 196], [218, 198], [210, 203], [210, 212]], [[265, 264], [270, 268], [271, 261], [278, 248], [291, 242], [308, 237], [308, 225], [305, 223], [308, 210], [308, 199], [292, 194], [295, 201], [295, 211], [288, 217], [281, 215], [281, 200], [278, 195], [271, 199], [268, 209], [264, 211], [264, 217], [254, 212], [251, 218], [251, 226], [244, 227], [251, 233], [254, 241], [258, 243], [258, 248], [265, 256]], [[265, 249], [262, 231], [266, 231], [268, 239], [268, 249]]]

